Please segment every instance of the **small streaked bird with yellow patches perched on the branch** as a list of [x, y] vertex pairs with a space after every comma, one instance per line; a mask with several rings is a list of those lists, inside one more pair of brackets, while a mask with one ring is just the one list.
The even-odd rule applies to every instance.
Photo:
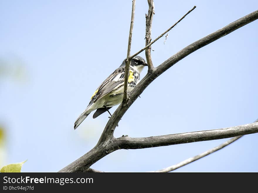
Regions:
[[[125, 60], [94, 92], [89, 105], [75, 121], [74, 129], [76, 129], [92, 111], [97, 109], [93, 114], [93, 118], [96, 118], [108, 111], [111, 107], [122, 102], [125, 80]], [[129, 68], [128, 92], [132, 91], [139, 82], [140, 73], [144, 66], [147, 66], [147, 63], [142, 57], [135, 56], [132, 58]], [[108, 113], [111, 115], [109, 111]]]

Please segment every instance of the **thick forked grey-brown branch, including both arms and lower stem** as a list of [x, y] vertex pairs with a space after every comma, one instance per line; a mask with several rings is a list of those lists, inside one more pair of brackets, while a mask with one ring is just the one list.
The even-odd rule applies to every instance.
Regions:
[[[227, 137], [234, 137], [238, 135], [246, 135], [250, 133], [258, 132], [257, 123], [251, 123], [244, 126], [238, 126], [238, 128], [229, 127], [222, 130], [211, 130], [211, 131], [201, 131], [201, 132], [191, 132], [184, 134], [174, 134], [174, 135], [165, 135], [157, 137], [143, 137], [143, 138], [130, 138], [130, 137], [119, 137], [114, 138], [113, 132], [118, 124], [119, 120], [132, 105], [132, 103], [138, 98], [138, 96], [145, 90], [145, 88], [157, 78], [159, 75], [164, 73], [168, 68], [173, 66], [175, 63], [188, 56], [190, 53], [202, 48], [203, 46], [208, 45], [209, 43], [235, 31], [236, 29], [249, 24], [250, 22], [258, 19], [258, 10], [254, 11], [247, 16], [238, 19], [237, 21], [232, 22], [231, 24], [221, 28], [210, 35], [201, 38], [200, 40], [186, 46], [178, 53], [174, 54], [172, 57], [168, 58], [161, 65], [151, 73], [147, 75], [136, 85], [136, 87], [130, 93], [130, 98], [127, 102], [127, 105], [119, 105], [116, 111], [113, 113], [111, 119], [108, 120], [106, 127], [104, 128], [99, 142], [97, 145], [87, 152], [85, 155], [80, 157], [78, 160], [69, 164], [65, 168], [61, 169], [60, 172], [86, 172], [89, 170], [89, 167], [94, 164], [96, 161], [100, 160], [102, 157], [108, 155], [109, 153], [118, 150], [120, 148], [139, 149], [147, 147], [158, 147], [162, 145], [174, 145], [181, 143], [189, 143], [195, 141], [205, 141], [205, 140], [215, 140], [222, 139]], [[256, 125], [255, 125], [256, 124]], [[227, 130], [228, 129], [228, 130]], [[231, 129], [231, 130], [230, 130]], [[237, 129], [235, 131], [234, 129]], [[204, 136], [203, 136], [204, 135]], [[160, 141], [161, 137], [164, 137], [166, 142]], [[159, 143], [160, 142], [160, 143]]]

